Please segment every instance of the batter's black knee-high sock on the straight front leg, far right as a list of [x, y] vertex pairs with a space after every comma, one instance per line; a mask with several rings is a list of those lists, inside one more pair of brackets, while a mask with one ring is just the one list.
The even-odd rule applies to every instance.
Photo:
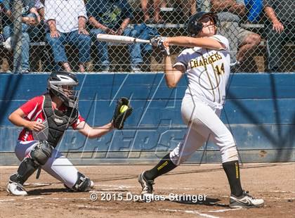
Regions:
[[242, 186], [240, 181], [240, 167], [237, 160], [224, 162], [223, 169], [226, 176], [228, 177], [228, 182], [230, 183], [230, 192], [232, 195], [240, 196], [242, 195]]

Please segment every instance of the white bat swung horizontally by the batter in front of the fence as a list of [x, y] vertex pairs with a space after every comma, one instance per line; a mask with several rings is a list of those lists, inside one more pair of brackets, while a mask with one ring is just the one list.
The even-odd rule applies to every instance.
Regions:
[[118, 36], [118, 35], [111, 35], [111, 34], [97, 34], [96, 39], [98, 39], [98, 41], [107, 41], [107, 42], [122, 43], [122, 44], [133, 44], [133, 43], [150, 44], [150, 40], [137, 39], [134, 37]]

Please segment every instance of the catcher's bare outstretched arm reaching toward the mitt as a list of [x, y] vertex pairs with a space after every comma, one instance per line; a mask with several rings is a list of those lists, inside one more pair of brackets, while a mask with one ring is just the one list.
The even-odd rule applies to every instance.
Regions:
[[89, 124], [83, 121], [77, 125], [76, 129], [84, 136], [89, 137], [90, 139], [96, 139], [112, 131], [114, 127], [112, 127], [111, 122], [103, 125], [102, 127], [90, 127]]

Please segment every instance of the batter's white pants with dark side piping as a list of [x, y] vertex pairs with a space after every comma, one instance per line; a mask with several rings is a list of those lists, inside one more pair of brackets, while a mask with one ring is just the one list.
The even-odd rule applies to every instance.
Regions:
[[238, 160], [235, 141], [220, 120], [220, 114], [221, 108], [209, 105], [191, 95], [185, 95], [181, 104], [181, 115], [188, 125], [188, 132], [183, 141], [170, 153], [175, 165], [185, 162], [208, 139], [216, 143], [220, 149], [222, 162]]

